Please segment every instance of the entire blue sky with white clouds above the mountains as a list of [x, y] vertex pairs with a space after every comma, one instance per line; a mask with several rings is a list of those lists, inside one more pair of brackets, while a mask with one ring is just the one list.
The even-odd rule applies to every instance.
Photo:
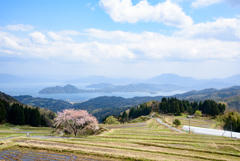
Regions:
[[0, 1], [0, 74], [240, 74], [239, 0]]

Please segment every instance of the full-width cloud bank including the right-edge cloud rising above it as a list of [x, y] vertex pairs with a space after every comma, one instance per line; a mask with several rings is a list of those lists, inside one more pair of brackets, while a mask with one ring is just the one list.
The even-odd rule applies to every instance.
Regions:
[[[59, 62], [239, 61], [239, 31], [239, 19], [219, 18], [215, 22], [192, 25], [175, 32], [174, 36], [94, 28], [81, 34], [77, 31], [49, 31], [46, 34], [35, 31], [25, 38], [0, 32], [0, 54]], [[90, 37], [92, 41], [74, 42], [69, 34], [77, 33]]]

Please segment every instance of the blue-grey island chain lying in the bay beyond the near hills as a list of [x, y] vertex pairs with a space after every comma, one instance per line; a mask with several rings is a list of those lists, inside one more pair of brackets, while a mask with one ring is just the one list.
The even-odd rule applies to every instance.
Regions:
[[158, 92], [172, 92], [177, 90], [187, 90], [185, 87], [179, 87], [176, 85], [157, 85], [157, 84], [129, 84], [129, 85], [112, 85], [112, 84], [93, 84], [87, 86], [87, 88], [96, 89], [78, 89], [73, 85], [66, 85], [64, 87], [55, 86], [47, 87], [39, 91], [40, 94], [57, 94], [57, 93], [112, 93], [112, 92], [146, 92], [150, 94], [156, 94]]

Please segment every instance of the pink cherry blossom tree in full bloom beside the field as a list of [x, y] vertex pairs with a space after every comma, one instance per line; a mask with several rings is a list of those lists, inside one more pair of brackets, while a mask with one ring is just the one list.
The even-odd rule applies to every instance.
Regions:
[[98, 129], [97, 119], [86, 110], [65, 109], [57, 113], [58, 116], [54, 119], [56, 128], [60, 128], [61, 126], [67, 127], [69, 125], [75, 136], [79, 130], [84, 128]]

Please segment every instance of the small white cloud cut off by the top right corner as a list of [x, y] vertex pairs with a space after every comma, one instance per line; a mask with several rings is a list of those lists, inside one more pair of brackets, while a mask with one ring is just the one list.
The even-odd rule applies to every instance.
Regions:
[[240, 5], [239, 0], [195, 0], [194, 2], [192, 2], [191, 6], [194, 8], [198, 8], [203, 6], [210, 6], [212, 4], [220, 3], [220, 2], [226, 2], [233, 7]]

